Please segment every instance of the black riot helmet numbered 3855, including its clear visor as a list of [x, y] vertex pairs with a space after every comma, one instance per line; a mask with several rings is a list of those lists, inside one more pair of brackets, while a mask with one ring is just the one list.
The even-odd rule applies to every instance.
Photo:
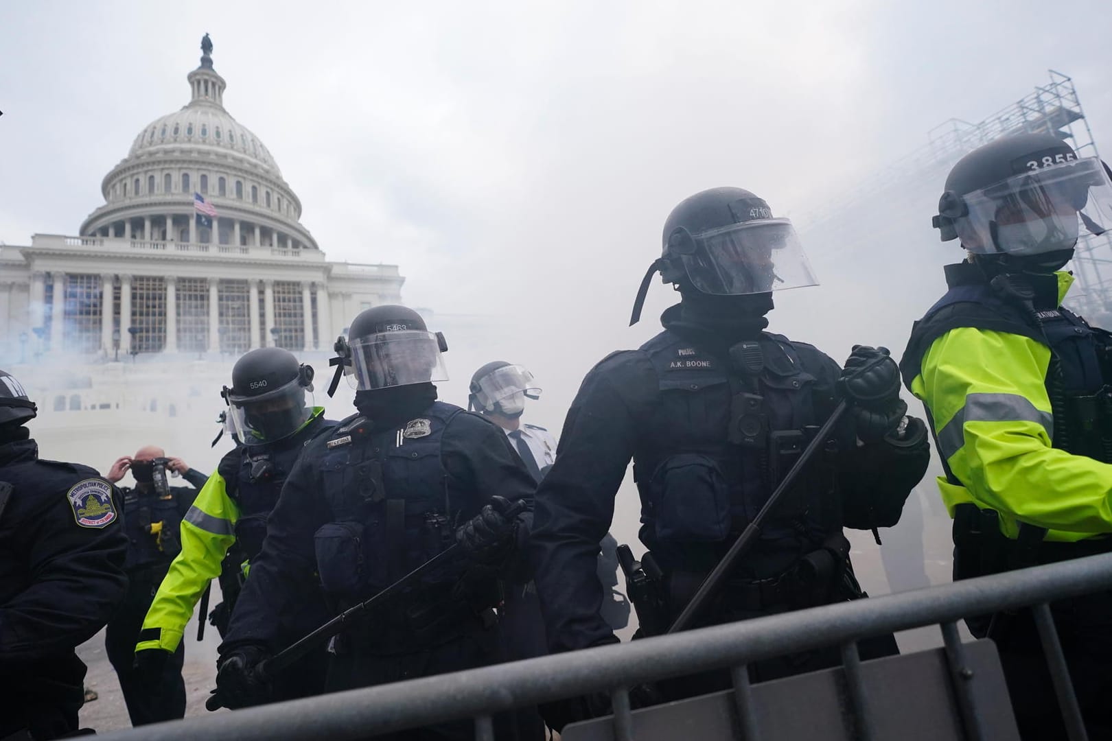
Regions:
[[1079, 159], [1052, 133], [1001, 137], [954, 164], [932, 223], [977, 260], [1056, 270], [1082, 227], [1102, 234], [1112, 226], [1112, 182], [1099, 159]]

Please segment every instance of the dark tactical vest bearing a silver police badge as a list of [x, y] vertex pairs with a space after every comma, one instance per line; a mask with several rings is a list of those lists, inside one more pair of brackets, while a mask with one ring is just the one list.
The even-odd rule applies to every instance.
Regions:
[[[365, 431], [363, 417], [330, 431], [315, 469], [331, 522], [316, 533], [321, 585], [331, 594], [378, 591], [453, 542], [457, 514], [440, 460], [445, 427], [463, 410], [435, 402], [397, 428]], [[447, 583], [458, 571], [429, 574]]]

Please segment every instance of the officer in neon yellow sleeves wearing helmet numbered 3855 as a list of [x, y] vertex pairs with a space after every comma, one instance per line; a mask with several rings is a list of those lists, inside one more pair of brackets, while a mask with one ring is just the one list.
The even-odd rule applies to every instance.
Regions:
[[[926, 408], [954, 518], [954, 579], [1112, 550], [1109, 332], [1061, 306], [1080, 234], [1112, 227], [1112, 181], [1056, 136], [997, 139], [946, 178], [949, 291], [901, 361]], [[1112, 594], [1052, 605], [1091, 738], [1112, 734]], [[1024, 738], [1064, 738], [1030, 613], [971, 620], [1001, 653]]]

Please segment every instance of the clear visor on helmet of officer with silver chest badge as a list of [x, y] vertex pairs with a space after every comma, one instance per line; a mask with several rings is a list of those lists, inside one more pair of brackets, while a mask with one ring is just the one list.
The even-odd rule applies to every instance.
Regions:
[[354, 340], [349, 347], [348, 384], [357, 391], [448, 380], [434, 332], [381, 332]]

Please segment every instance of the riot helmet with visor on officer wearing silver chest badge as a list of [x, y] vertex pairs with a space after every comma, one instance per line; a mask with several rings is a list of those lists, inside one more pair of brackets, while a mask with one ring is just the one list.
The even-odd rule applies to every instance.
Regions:
[[365, 309], [351, 321], [347, 338], [334, 346], [336, 374], [328, 395], [336, 392], [340, 375], [357, 391], [374, 391], [413, 383], [447, 381], [443, 353], [448, 343], [440, 332], [429, 332], [413, 309], [384, 304]]

